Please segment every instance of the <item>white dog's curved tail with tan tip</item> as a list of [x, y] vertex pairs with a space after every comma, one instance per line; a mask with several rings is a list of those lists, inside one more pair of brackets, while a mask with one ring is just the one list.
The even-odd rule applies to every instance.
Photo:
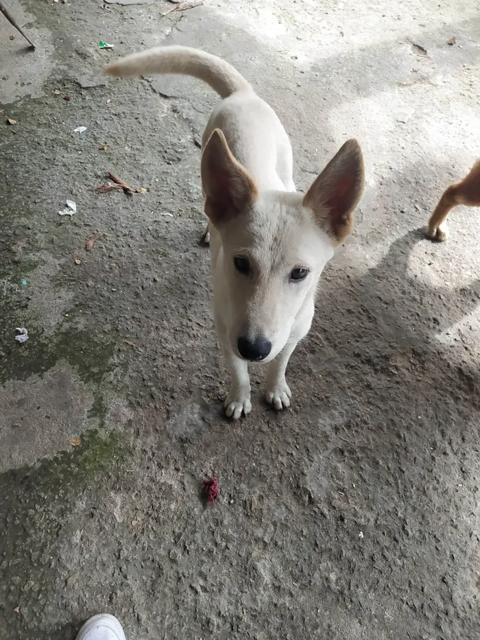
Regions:
[[128, 77], [150, 73], [182, 73], [192, 75], [209, 84], [222, 98], [237, 91], [251, 91], [252, 87], [231, 64], [190, 47], [154, 47], [139, 54], [110, 62], [106, 75]]

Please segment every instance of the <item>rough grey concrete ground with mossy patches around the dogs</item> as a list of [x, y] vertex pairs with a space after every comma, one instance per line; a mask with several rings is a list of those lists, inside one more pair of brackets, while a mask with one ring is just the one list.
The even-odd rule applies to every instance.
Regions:
[[[129, 640], [477, 639], [479, 218], [422, 232], [480, 156], [476, 3], [5, 3], [38, 48], [0, 15], [0, 638], [73, 640], [108, 611]], [[217, 97], [99, 77], [158, 43], [235, 64], [299, 188], [363, 147], [285, 413], [261, 370], [252, 414], [221, 410], [199, 242]], [[147, 193], [95, 191], [107, 171]]]

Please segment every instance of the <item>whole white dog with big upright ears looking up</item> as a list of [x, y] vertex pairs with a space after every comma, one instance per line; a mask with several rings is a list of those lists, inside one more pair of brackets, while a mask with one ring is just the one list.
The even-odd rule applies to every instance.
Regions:
[[112, 62], [105, 73], [183, 73], [224, 98], [203, 134], [201, 173], [215, 324], [232, 377], [226, 414], [236, 420], [252, 410], [249, 362], [269, 363], [267, 401], [289, 407], [289, 357], [311, 327], [317, 281], [350, 233], [363, 191], [359, 144], [346, 142], [301, 195], [280, 120], [224, 60], [156, 47]]

